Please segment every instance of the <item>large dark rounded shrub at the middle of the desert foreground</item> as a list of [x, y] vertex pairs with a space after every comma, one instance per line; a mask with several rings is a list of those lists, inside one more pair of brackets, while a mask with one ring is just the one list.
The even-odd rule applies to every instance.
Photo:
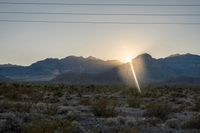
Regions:
[[92, 103], [92, 112], [97, 117], [115, 117], [117, 112], [115, 106], [105, 98], [100, 98]]

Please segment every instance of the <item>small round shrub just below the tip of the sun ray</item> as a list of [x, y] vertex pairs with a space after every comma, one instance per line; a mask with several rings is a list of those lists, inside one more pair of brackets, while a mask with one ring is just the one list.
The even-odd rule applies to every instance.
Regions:
[[131, 96], [127, 99], [127, 103], [130, 107], [138, 108], [142, 103], [142, 99], [138, 96]]

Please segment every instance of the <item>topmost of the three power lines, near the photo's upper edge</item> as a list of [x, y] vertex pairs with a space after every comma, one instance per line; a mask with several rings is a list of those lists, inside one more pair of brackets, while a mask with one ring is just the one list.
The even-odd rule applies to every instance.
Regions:
[[7, 5], [66, 5], [66, 6], [175, 6], [175, 7], [198, 7], [200, 4], [128, 4], [128, 3], [42, 3], [42, 2], [0, 2]]

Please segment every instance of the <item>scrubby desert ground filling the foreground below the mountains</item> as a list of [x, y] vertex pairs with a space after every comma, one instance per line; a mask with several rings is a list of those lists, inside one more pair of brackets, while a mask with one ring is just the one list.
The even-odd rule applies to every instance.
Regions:
[[0, 83], [1, 133], [199, 133], [200, 87]]

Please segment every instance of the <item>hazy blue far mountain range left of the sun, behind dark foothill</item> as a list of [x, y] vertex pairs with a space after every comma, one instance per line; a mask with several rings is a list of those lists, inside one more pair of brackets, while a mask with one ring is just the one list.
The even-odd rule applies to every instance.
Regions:
[[104, 61], [95, 57], [68, 56], [63, 59], [48, 58], [30, 66], [1, 65], [0, 74], [19, 81], [48, 81], [57, 75], [78, 73], [102, 73], [122, 63], [116, 60]]

